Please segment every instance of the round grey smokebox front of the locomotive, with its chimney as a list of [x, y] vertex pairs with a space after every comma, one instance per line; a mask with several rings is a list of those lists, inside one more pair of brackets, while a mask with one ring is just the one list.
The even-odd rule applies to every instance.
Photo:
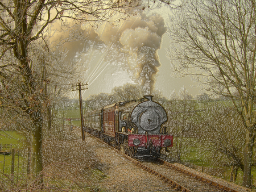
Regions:
[[138, 133], [159, 133], [161, 125], [167, 121], [164, 108], [154, 101], [151, 95], [145, 95], [147, 100], [135, 106], [131, 112], [130, 120], [138, 127]]

